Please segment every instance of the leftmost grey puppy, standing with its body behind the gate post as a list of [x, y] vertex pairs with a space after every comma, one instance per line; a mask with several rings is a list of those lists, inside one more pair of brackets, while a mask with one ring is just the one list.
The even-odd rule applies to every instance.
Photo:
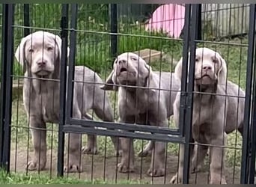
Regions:
[[[67, 52], [69, 54], [69, 52]], [[34, 145], [34, 158], [28, 162], [28, 170], [43, 170], [46, 166], [46, 123], [58, 123], [59, 120], [59, 89], [61, 38], [46, 31], [36, 31], [22, 38], [15, 57], [24, 64], [25, 78], [23, 85], [23, 102], [28, 115]], [[74, 72], [73, 117], [91, 120], [87, 114], [93, 109], [102, 120], [114, 121], [113, 110], [108, 97], [100, 89], [103, 81], [88, 67], [76, 66]], [[31, 79], [33, 78], [33, 79]], [[44, 78], [37, 79], [37, 78]], [[82, 82], [95, 82], [86, 84]], [[80, 172], [80, 138], [81, 135], [70, 134], [69, 164], [64, 167], [66, 172]], [[112, 138], [117, 148], [117, 138]], [[88, 146], [84, 153], [97, 152], [97, 136], [88, 135]]]

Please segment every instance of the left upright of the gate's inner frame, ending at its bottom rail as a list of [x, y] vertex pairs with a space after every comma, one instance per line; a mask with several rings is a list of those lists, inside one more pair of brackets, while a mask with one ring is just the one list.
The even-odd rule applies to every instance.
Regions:
[[71, 22], [70, 22], [70, 58], [67, 79], [67, 123], [72, 117], [73, 106], [73, 79], [76, 60], [76, 20], [77, 20], [77, 4], [72, 4], [71, 7]]

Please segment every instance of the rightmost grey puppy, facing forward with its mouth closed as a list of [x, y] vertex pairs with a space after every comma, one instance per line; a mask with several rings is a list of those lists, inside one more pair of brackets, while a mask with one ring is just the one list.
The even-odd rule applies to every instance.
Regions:
[[[178, 79], [181, 79], [181, 70], [182, 58], [174, 72]], [[198, 143], [213, 145], [210, 146], [210, 183], [216, 184], [226, 183], [225, 151], [222, 146], [226, 145], [227, 134], [235, 129], [241, 133], [243, 130], [245, 93], [238, 85], [226, 80], [226, 73], [226, 62], [218, 52], [208, 48], [196, 49], [192, 138]], [[179, 121], [179, 112], [180, 93], [177, 93], [174, 101], [176, 125]], [[195, 150], [198, 153], [195, 151], [192, 157], [192, 170], [204, 160], [207, 149], [207, 146], [197, 146]], [[180, 144], [179, 169], [172, 177], [171, 183], [181, 183], [183, 180], [183, 153], [184, 145]]]

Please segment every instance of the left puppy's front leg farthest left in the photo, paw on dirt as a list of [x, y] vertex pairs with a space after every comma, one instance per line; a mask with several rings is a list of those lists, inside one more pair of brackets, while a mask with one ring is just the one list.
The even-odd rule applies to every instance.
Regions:
[[27, 168], [30, 171], [42, 171], [46, 167], [46, 123], [37, 116], [29, 117], [32, 141], [34, 146], [34, 158], [28, 162]]

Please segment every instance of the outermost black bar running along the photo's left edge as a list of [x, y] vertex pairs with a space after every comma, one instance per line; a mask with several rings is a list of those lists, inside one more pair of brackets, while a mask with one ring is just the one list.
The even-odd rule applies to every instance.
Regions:
[[8, 24], [8, 6], [7, 4], [2, 4], [2, 10], [3, 10], [3, 15], [2, 15], [2, 28], [1, 28], [1, 108], [0, 108], [0, 132], [1, 132], [1, 137], [0, 137], [0, 146], [1, 146], [1, 153], [0, 153], [0, 162], [1, 166], [3, 166], [2, 162], [2, 154], [3, 152], [3, 147], [4, 147], [4, 118], [5, 118], [5, 105], [6, 105], [6, 96], [5, 96], [5, 91], [6, 91], [6, 46], [7, 46], [7, 24]]

